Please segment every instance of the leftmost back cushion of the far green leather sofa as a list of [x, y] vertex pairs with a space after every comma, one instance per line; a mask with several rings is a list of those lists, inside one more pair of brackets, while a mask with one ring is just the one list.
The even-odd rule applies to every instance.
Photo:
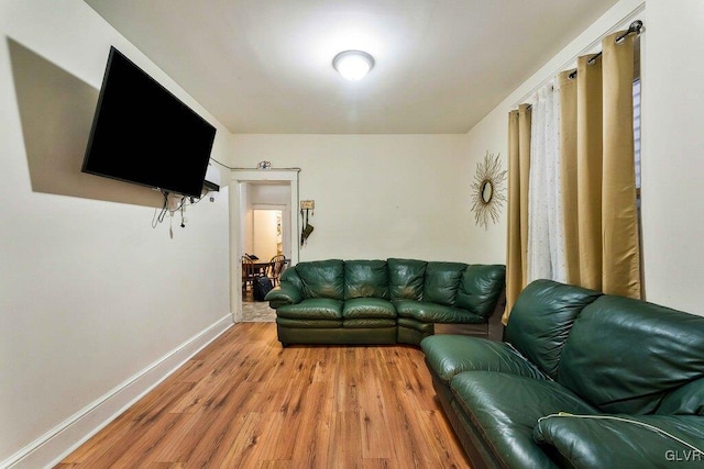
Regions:
[[306, 298], [344, 299], [344, 261], [314, 260], [296, 265]]

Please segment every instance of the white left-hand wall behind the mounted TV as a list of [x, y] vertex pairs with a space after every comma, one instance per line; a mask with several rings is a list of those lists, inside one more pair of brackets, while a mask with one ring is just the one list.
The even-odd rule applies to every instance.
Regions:
[[[206, 119], [215, 120], [80, 0], [61, 4], [1, 0], [0, 32], [3, 466], [43, 443], [51, 446], [59, 440], [73, 418], [201, 332], [227, 321], [230, 312], [227, 190], [217, 203], [204, 201], [189, 208], [187, 227], [175, 223], [173, 239], [168, 223], [152, 228], [152, 206], [33, 190], [23, 132], [35, 123], [23, 122], [20, 115], [9, 41], [96, 93], [113, 44]], [[63, 91], [56, 89], [57, 97]], [[55, 104], [45, 102], [47, 111]], [[75, 129], [72, 114], [68, 110], [62, 121], [42, 122], [40, 132], [76, 133], [87, 139], [89, 129]], [[227, 138], [219, 127], [213, 155], [219, 159], [227, 159]], [[73, 168], [76, 174], [79, 169]], [[109, 182], [112, 186], [105, 182], [106, 188], [112, 187], [111, 197], [118, 200], [138, 190]], [[116, 189], [120, 185], [123, 191]], [[55, 438], [47, 442], [51, 436]], [[68, 443], [76, 443], [70, 437]], [[31, 460], [18, 466], [47, 464], [41, 457]]]

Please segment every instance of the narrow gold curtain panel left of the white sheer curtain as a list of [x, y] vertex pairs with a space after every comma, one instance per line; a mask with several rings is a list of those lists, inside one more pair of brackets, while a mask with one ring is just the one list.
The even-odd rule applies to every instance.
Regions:
[[528, 278], [528, 181], [530, 175], [530, 105], [508, 114], [508, 233], [506, 310], [508, 315]]

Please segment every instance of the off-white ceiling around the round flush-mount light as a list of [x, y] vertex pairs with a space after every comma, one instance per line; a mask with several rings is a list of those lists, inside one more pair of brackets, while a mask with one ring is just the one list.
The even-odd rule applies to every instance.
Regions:
[[85, 1], [231, 132], [275, 134], [465, 133], [617, 2]]

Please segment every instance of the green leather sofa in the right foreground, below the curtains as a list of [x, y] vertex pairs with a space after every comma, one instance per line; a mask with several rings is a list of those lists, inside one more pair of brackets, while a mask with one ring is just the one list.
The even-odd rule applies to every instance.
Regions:
[[505, 342], [421, 342], [473, 468], [704, 467], [704, 317], [548, 280]]

